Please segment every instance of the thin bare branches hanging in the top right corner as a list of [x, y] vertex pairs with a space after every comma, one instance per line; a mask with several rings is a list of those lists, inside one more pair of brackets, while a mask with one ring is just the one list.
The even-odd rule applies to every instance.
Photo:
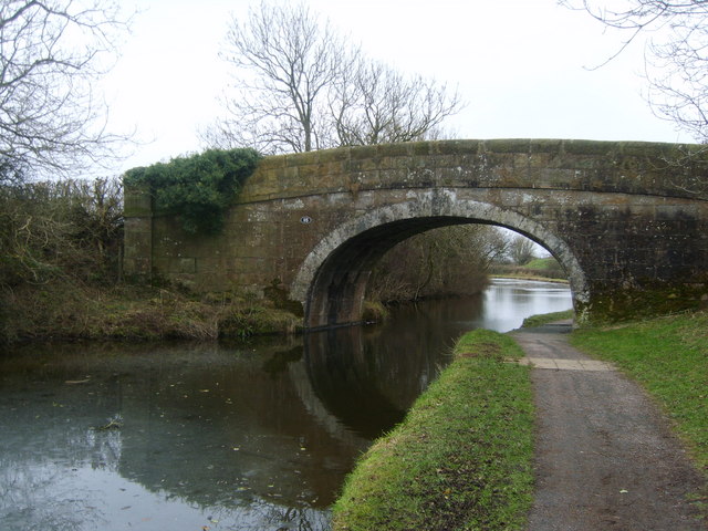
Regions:
[[626, 34], [611, 61], [639, 35], [646, 44], [647, 100], [701, 143], [708, 142], [708, 0], [624, 0], [612, 8], [597, 1], [562, 0]]

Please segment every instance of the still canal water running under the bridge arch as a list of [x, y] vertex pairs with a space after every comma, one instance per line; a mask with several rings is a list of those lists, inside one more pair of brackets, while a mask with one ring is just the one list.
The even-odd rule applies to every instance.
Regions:
[[571, 308], [494, 280], [385, 325], [248, 343], [61, 345], [0, 357], [0, 529], [325, 530], [344, 476], [465, 331]]

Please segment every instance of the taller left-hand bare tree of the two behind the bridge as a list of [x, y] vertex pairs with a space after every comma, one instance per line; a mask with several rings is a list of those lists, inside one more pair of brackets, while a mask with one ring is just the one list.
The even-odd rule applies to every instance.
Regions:
[[228, 117], [202, 134], [219, 147], [266, 153], [310, 152], [326, 145], [326, 91], [351, 61], [344, 41], [304, 4], [262, 2], [231, 20], [223, 59], [236, 66]]

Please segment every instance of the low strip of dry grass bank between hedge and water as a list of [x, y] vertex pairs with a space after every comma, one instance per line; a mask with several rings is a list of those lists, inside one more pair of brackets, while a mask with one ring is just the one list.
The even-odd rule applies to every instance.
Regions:
[[215, 340], [295, 332], [302, 317], [248, 294], [75, 279], [0, 291], [0, 345], [46, 340]]

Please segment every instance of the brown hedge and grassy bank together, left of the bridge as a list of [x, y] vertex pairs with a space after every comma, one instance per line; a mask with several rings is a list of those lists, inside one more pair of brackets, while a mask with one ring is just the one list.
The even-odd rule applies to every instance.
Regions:
[[268, 300], [133, 283], [121, 271], [118, 179], [0, 187], [0, 344], [27, 340], [216, 339], [292, 332]]

